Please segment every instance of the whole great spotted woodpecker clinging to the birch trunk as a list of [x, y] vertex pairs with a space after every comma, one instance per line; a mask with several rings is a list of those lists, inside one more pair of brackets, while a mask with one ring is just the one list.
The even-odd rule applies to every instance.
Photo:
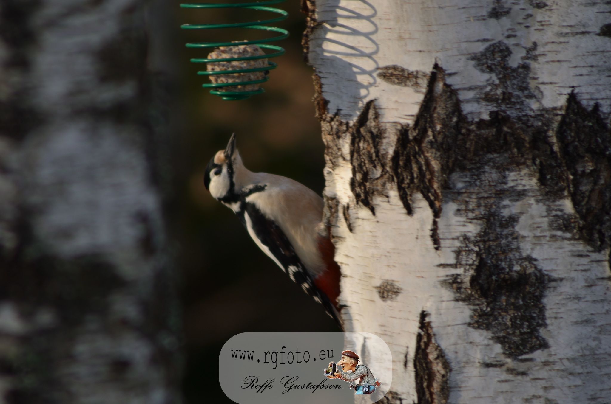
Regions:
[[323, 200], [290, 178], [244, 167], [232, 135], [206, 167], [204, 185], [235, 212], [258, 247], [324, 306], [340, 326], [340, 269], [334, 245], [321, 223]]

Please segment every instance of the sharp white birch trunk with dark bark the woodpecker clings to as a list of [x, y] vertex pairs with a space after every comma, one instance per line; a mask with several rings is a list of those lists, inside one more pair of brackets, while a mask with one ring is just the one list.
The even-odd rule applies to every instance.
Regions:
[[302, 5], [342, 316], [390, 346], [386, 402], [611, 402], [609, 2]]

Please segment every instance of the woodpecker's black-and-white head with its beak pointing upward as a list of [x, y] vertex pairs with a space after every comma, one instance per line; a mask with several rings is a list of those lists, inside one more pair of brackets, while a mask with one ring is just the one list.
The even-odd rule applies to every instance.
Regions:
[[206, 173], [203, 177], [203, 184], [213, 198], [217, 200], [228, 200], [235, 196], [236, 170], [242, 167], [240, 153], [235, 147], [235, 133], [229, 139], [225, 150], [210, 159]]

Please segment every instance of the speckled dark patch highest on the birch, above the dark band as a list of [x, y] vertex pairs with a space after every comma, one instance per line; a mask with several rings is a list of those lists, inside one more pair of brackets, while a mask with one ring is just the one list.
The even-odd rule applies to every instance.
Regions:
[[496, 79], [488, 80], [488, 88], [479, 90], [483, 103], [499, 110], [530, 110], [527, 99], [536, 98], [530, 88], [530, 63], [510, 65], [511, 48], [507, 43], [498, 41], [486, 46], [483, 51], [470, 56], [477, 70], [492, 74]]

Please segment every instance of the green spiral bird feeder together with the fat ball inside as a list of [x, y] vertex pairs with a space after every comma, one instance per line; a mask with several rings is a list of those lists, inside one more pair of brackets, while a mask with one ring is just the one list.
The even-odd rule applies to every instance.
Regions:
[[[206, 59], [191, 59], [192, 63], [207, 63], [207, 70], [198, 71], [197, 74], [208, 76], [211, 83], [202, 84], [202, 87], [211, 88], [211, 94], [221, 96], [222, 99], [228, 101], [246, 99], [251, 95], [265, 92], [263, 88], [259, 87], [259, 84], [268, 81], [268, 71], [277, 67], [276, 63], [269, 62], [268, 59], [284, 55], [284, 48], [268, 45], [268, 43], [288, 37], [287, 30], [266, 25], [285, 20], [288, 17], [288, 13], [274, 7], [267, 7], [267, 5], [283, 1], [285, 0], [236, 4], [188, 3], [180, 5], [184, 9], [250, 9], [280, 15], [269, 20], [249, 23], [181, 25], [183, 29], [249, 28], [278, 32], [280, 34], [273, 38], [252, 41], [187, 43], [187, 48], [218, 48], [208, 54]], [[273, 52], [265, 54], [262, 49], [268, 49]]]

